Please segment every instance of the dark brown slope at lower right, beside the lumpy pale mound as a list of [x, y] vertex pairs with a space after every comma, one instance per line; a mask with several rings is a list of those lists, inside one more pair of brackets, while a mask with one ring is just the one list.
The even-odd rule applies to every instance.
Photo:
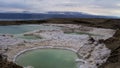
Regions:
[[117, 30], [113, 37], [104, 42], [111, 49], [111, 55], [100, 68], [120, 68], [120, 30]]

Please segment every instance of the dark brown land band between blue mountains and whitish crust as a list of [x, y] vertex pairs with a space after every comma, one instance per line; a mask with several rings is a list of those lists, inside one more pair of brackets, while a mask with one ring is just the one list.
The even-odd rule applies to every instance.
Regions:
[[56, 18], [47, 20], [28, 20], [28, 21], [0, 21], [0, 25], [20, 25], [20, 24], [82, 24], [98, 28], [120, 28], [120, 19], [102, 19], [102, 18]]

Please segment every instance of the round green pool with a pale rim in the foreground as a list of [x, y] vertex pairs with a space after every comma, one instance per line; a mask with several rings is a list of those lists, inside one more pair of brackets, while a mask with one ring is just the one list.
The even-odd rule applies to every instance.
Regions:
[[77, 68], [76, 53], [60, 49], [38, 49], [25, 52], [16, 59], [21, 66], [34, 68]]

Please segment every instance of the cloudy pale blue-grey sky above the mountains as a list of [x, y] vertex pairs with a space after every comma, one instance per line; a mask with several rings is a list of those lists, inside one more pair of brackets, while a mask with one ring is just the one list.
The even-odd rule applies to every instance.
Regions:
[[0, 12], [83, 12], [120, 17], [120, 0], [0, 0]]

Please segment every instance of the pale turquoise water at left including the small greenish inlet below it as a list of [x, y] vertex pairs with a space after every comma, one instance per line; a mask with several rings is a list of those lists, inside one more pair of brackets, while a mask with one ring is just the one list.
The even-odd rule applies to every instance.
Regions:
[[23, 36], [25, 32], [30, 32], [34, 30], [53, 30], [60, 29], [60, 27], [53, 26], [44, 26], [44, 25], [9, 25], [9, 26], [0, 26], [0, 34], [13, 34], [16, 38], [22, 39], [41, 39], [35, 36]]

